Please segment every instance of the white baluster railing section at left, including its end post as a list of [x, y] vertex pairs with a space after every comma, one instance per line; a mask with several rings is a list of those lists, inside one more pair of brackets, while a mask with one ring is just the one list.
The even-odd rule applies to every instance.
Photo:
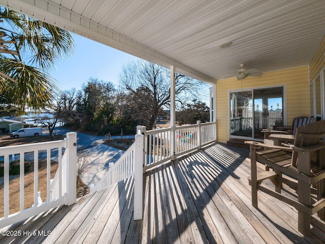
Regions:
[[[7, 146], [0, 148], [0, 158], [4, 160], [4, 217], [0, 219], [0, 228], [24, 220], [53, 207], [76, 202], [76, 162], [77, 162], [77, 133], [67, 133], [67, 138], [60, 141], [33, 143]], [[62, 148], [66, 148], [62, 157]], [[9, 214], [9, 162], [13, 157], [20, 160], [20, 211]], [[34, 161], [34, 204], [26, 208], [24, 205], [24, 161], [31, 157]], [[51, 184], [51, 158], [58, 160], [58, 169]], [[38, 204], [39, 159], [46, 159], [46, 199]], [[17, 191], [18, 189], [15, 189]], [[26, 209], [25, 209], [26, 208]]]

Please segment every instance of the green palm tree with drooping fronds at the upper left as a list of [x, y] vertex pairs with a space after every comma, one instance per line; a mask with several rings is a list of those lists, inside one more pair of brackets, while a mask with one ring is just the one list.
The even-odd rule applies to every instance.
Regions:
[[57, 87], [48, 74], [55, 60], [74, 48], [64, 29], [0, 7], [0, 94], [20, 112], [41, 110]]

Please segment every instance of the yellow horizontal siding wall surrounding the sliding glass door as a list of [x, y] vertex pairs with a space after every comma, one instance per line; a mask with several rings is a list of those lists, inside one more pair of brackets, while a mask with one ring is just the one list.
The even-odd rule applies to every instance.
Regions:
[[217, 135], [219, 142], [229, 140], [229, 90], [286, 84], [287, 121], [297, 116], [309, 116], [308, 66], [268, 72], [261, 77], [217, 81]]

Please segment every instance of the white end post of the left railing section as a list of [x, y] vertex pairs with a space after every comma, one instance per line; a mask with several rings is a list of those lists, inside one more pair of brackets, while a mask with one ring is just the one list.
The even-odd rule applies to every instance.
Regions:
[[77, 200], [77, 133], [67, 133], [68, 150], [68, 196], [66, 196], [66, 205], [70, 206]]

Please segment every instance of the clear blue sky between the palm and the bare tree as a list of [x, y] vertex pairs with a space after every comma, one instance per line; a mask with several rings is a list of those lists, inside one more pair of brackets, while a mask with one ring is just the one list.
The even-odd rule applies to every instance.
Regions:
[[90, 77], [111, 81], [117, 87], [122, 66], [137, 58], [78, 35], [74, 40], [72, 57], [59, 60], [49, 72], [61, 90], [80, 89]]

